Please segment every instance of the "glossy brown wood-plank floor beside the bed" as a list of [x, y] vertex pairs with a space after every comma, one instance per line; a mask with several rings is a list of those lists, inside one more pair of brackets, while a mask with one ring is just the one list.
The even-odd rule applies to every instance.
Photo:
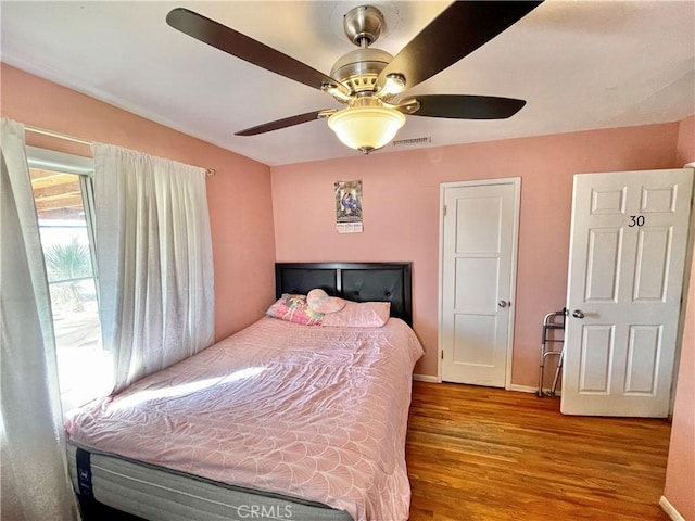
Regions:
[[668, 521], [665, 420], [568, 417], [558, 398], [414, 382], [410, 521]]

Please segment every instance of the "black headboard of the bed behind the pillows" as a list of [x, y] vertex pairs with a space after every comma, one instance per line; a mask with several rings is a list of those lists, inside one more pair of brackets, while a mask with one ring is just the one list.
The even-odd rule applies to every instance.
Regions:
[[391, 303], [391, 316], [413, 326], [412, 263], [278, 263], [275, 293], [305, 295], [320, 288], [354, 302]]

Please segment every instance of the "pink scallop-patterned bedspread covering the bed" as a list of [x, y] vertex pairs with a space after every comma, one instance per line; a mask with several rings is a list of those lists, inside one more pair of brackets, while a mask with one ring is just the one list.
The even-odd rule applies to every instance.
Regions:
[[408, 518], [413, 330], [263, 318], [73, 412], [71, 440], [169, 469], [346, 510]]

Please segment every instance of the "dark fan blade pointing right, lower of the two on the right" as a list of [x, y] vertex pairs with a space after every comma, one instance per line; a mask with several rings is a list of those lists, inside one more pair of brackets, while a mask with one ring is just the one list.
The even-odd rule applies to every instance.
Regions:
[[452, 119], [506, 119], [526, 105], [523, 100], [494, 96], [431, 94], [415, 99], [420, 107], [406, 114]]

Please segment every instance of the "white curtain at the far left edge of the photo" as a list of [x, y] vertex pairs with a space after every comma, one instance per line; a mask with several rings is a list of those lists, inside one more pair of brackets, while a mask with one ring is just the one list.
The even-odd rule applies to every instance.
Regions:
[[2, 520], [77, 519], [55, 340], [24, 126], [2, 118], [0, 331]]

